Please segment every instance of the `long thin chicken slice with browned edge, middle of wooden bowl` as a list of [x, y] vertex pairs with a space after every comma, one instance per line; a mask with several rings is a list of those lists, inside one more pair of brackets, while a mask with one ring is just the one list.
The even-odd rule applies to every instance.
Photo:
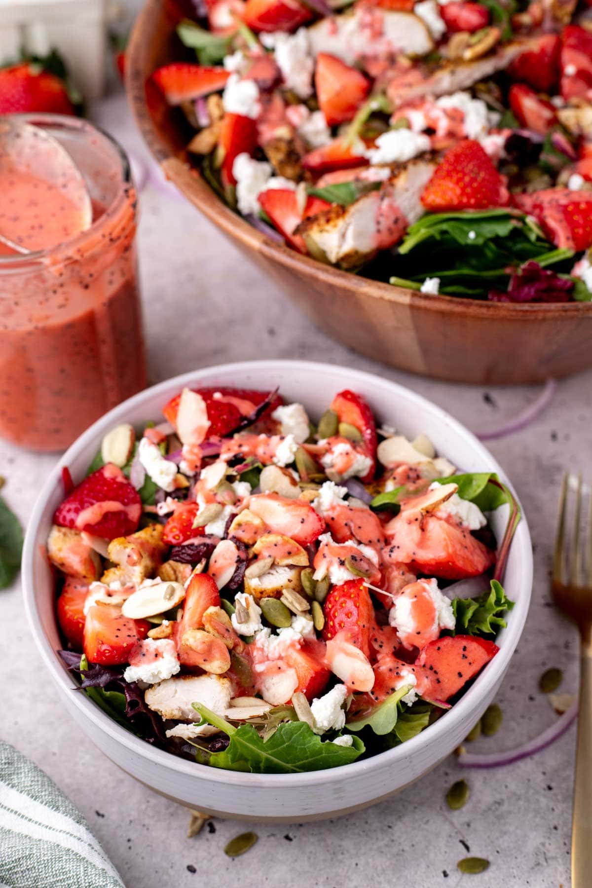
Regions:
[[497, 52], [474, 61], [448, 60], [435, 69], [414, 65], [386, 83], [386, 94], [392, 107], [397, 108], [414, 99], [438, 98], [467, 90], [473, 83], [508, 67], [514, 59], [530, 49], [531, 44], [535, 44], [535, 39], [525, 38], [505, 44]]

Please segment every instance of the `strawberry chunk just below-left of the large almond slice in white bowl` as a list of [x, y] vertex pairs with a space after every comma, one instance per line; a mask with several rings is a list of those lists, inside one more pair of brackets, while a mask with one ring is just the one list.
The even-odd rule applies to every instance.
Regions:
[[139, 638], [146, 638], [150, 623], [130, 620], [114, 605], [93, 605], [84, 621], [84, 655], [90, 663], [120, 666], [127, 663]]

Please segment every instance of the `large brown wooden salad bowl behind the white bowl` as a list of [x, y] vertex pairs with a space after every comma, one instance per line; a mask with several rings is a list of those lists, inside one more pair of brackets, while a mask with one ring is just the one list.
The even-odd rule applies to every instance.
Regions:
[[130, 106], [163, 174], [330, 336], [424, 376], [489, 385], [538, 383], [592, 367], [592, 303], [515, 305], [424, 295], [372, 281], [272, 242], [222, 202], [188, 162], [191, 131], [149, 82], [191, 60], [175, 33], [190, 0], [146, 0], [127, 51]]

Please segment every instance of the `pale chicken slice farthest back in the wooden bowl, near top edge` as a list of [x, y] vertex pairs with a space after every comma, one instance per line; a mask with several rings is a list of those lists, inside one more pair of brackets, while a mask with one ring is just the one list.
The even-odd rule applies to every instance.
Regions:
[[330, 16], [308, 28], [312, 54], [320, 52], [353, 65], [359, 59], [389, 58], [399, 52], [422, 56], [434, 42], [425, 22], [413, 12], [391, 12], [359, 4], [353, 14]]

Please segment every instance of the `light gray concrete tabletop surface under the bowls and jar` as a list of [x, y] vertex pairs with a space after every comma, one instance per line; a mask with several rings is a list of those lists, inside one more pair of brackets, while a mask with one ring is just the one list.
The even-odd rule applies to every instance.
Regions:
[[[130, 152], [148, 160], [122, 96], [102, 102], [93, 117]], [[541, 391], [448, 385], [384, 369], [313, 329], [287, 297], [168, 186], [146, 186], [141, 211], [152, 382], [221, 361], [325, 360], [408, 385], [476, 431], [515, 416]], [[499, 695], [504, 723], [495, 737], [474, 744], [478, 749], [512, 748], [556, 718], [537, 689], [549, 666], [564, 670], [562, 690], [575, 692], [577, 687], [576, 637], [549, 601], [549, 558], [562, 469], [590, 470], [591, 391], [592, 373], [561, 382], [544, 415], [522, 432], [491, 443], [525, 504], [536, 571], [525, 634]], [[8, 480], [4, 494], [23, 524], [53, 463], [53, 456], [34, 456], [0, 442], [0, 474]], [[257, 845], [244, 857], [229, 860], [225, 843], [243, 825], [211, 821], [201, 835], [186, 838], [188, 813], [120, 772], [67, 717], [29, 636], [18, 583], [0, 593], [0, 658], [0, 733], [78, 805], [128, 888], [239, 882], [245, 888], [569, 884], [573, 728], [538, 756], [503, 769], [463, 772], [450, 757], [398, 797], [342, 820], [277, 828], [255, 824]], [[470, 783], [470, 801], [462, 811], [450, 812], [446, 789], [461, 776]], [[462, 876], [457, 871], [457, 860], [469, 848], [491, 860], [485, 874]]]

